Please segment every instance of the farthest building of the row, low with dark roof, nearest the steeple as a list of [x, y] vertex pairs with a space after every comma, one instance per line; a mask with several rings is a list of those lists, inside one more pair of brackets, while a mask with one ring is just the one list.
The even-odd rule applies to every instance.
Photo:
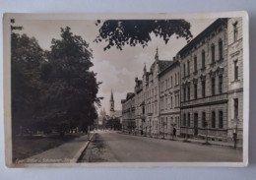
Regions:
[[135, 130], [135, 93], [128, 92], [122, 103], [122, 130], [131, 133]]

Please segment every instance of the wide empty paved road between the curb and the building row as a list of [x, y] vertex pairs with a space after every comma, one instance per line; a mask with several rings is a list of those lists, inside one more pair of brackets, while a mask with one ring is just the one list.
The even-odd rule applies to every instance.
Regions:
[[233, 162], [242, 160], [242, 150], [124, 135], [116, 132], [97, 132], [95, 140], [86, 153], [82, 161]]

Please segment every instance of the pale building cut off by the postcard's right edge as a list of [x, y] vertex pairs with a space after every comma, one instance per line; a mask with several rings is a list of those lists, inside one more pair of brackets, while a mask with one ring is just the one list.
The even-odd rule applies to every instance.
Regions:
[[229, 140], [237, 134], [238, 143], [243, 137], [243, 46], [242, 18], [227, 21], [228, 45], [228, 133]]

